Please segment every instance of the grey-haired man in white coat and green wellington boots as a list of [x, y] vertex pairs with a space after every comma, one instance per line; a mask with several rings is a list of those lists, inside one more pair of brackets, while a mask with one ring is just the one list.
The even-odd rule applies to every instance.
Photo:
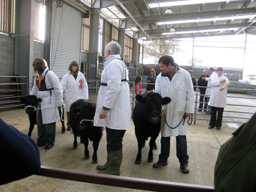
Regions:
[[[122, 163], [122, 141], [126, 130], [131, 129], [131, 104], [128, 70], [120, 58], [121, 46], [117, 42], [106, 45], [106, 61], [100, 77], [100, 89], [95, 115], [100, 114], [99, 123], [106, 126], [107, 162], [97, 165], [98, 173], [120, 175]], [[107, 121], [107, 114], [109, 123]]]

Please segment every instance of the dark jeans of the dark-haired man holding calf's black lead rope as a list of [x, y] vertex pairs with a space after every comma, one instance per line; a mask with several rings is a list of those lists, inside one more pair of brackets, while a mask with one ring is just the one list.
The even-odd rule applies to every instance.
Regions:
[[[167, 162], [170, 155], [170, 137], [161, 137], [161, 153], [159, 154], [159, 160]], [[176, 156], [179, 159], [180, 164], [188, 163], [187, 154], [187, 138], [186, 135], [176, 136]]]

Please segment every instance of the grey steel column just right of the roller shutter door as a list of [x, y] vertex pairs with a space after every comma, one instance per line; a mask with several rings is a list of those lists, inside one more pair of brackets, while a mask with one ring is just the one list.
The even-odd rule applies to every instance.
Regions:
[[[97, 68], [99, 61], [98, 46], [99, 46], [99, 24], [100, 24], [100, 9], [91, 9], [93, 15], [90, 17], [90, 35], [89, 35], [89, 53], [88, 63], [90, 67], [89, 79], [97, 79]], [[104, 50], [105, 51], [105, 50]]]

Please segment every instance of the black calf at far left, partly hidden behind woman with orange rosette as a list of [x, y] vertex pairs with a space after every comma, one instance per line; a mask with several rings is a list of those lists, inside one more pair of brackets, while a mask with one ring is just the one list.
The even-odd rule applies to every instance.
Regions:
[[[28, 95], [26, 97], [21, 97], [20, 101], [25, 103], [25, 107], [27, 107], [27, 106], [36, 107], [38, 105], [38, 103], [40, 103], [42, 101], [42, 99], [41, 98], [36, 98], [35, 95]], [[31, 133], [34, 129], [34, 126], [36, 125], [36, 111], [35, 111], [35, 108], [33, 108], [33, 107], [26, 108], [26, 113], [28, 114], [29, 123], [30, 123], [29, 124], [29, 132], [28, 132], [28, 136], [30, 136], [30, 137], [31, 137]], [[60, 116], [61, 116], [61, 109], [60, 108], [59, 108], [59, 113], [60, 113]], [[64, 112], [64, 109], [63, 109], [62, 119], [64, 119], [64, 113], [65, 112]], [[65, 133], [64, 121], [61, 121], [61, 124], [62, 124], [61, 133]]]

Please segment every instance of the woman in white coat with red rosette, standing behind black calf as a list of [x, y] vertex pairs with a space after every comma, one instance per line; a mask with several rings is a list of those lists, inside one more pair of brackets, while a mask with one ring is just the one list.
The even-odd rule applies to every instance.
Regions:
[[68, 67], [69, 72], [62, 77], [60, 82], [61, 87], [65, 89], [66, 104], [65, 111], [67, 112], [67, 130], [71, 131], [69, 124], [69, 109], [72, 103], [76, 100], [88, 100], [88, 85], [85, 80], [84, 74], [80, 72], [80, 67], [76, 61], [72, 61]]

